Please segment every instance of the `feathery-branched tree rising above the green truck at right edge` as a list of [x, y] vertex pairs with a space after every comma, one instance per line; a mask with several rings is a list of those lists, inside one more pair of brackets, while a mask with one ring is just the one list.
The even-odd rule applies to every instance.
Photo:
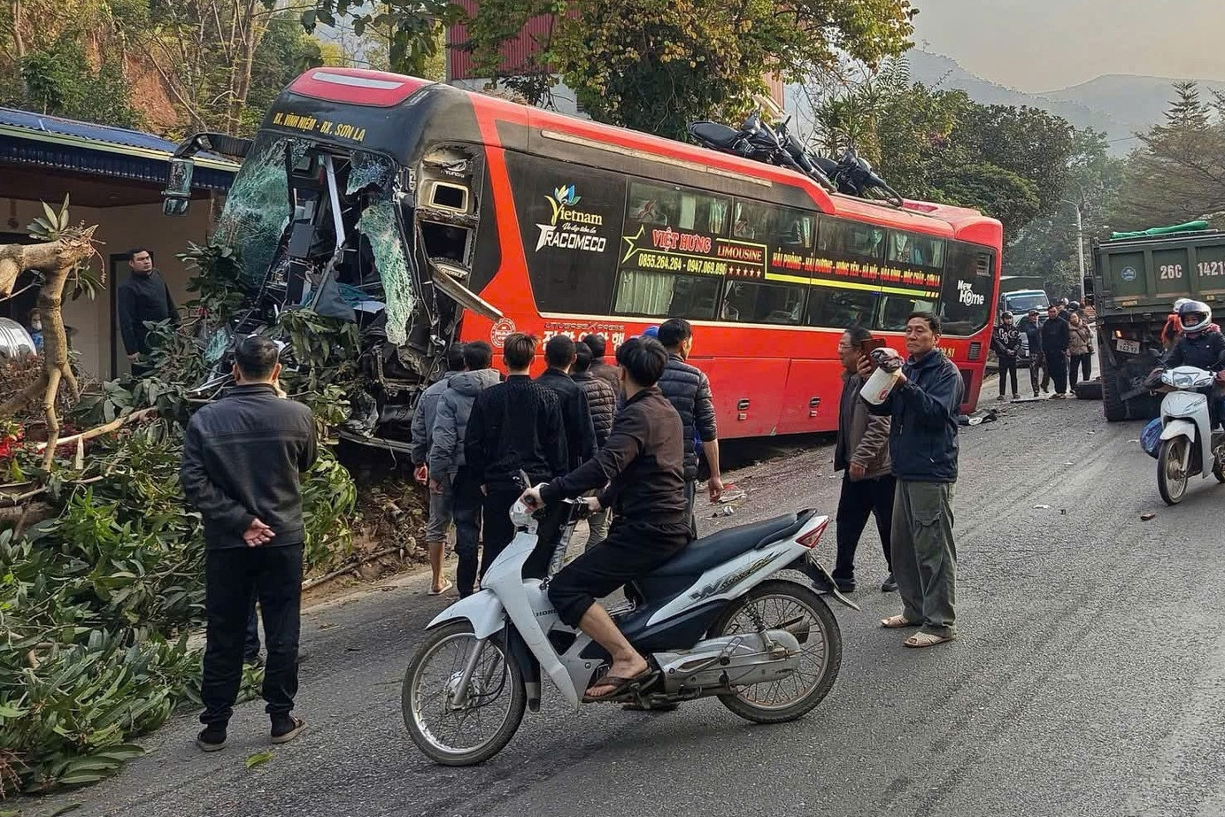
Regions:
[[1127, 159], [1115, 229], [1225, 224], [1225, 96], [1204, 102], [1194, 82], [1174, 89], [1165, 121], [1140, 134], [1143, 147]]

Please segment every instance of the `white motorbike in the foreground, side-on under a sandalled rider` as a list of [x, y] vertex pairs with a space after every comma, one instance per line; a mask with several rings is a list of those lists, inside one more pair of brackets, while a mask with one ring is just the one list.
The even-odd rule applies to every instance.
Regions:
[[[541, 581], [586, 516], [582, 501], [535, 513], [516, 502], [518, 533], [481, 590], [430, 622], [402, 691], [404, 724], [430, 759], [473, 766], [501, 751], [524, 707], [540, 708], [541, 669], [576, 710], [608, 671], [608, 653], [561, 623]], [[628, 604], [610, 614], [654, 671], [612, 699], [652, 707], [715, 696], [757, 723], [816, 707], [842, 663], [838, 621], [806, 583], [777, 574], [801, 571], [832, 588], [813, 557], [827, 524], [829, 517], [804, 511], [720, 530], [628, 585]]]

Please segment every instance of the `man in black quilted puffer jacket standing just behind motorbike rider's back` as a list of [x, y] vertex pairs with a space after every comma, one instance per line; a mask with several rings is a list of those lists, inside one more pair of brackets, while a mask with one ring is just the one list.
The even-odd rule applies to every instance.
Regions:
[[714, 399], [710, 381], [697, 366], [687, 363], [693, 352], [693, 327], [690, 322], [673, 317], [659, 325], [659, 342], [668, 349], [668, 367], [659, 378], [659, 391], [681, 415], [685, 426], [685, 496], [688, 501], [690, 529], [697, 537], [697, 443], [710, 465], [707, 484], [710, 501], [723, 495], [723, 475], [719, 470], [719, 430], [714, 421]]

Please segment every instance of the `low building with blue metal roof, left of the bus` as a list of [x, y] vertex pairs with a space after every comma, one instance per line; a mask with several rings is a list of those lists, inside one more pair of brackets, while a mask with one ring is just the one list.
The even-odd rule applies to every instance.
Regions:
[[[192, 178], [197, 206], [185, 218], [162, 214], [162, 189], [176, 145], [153, 134], [96, 125], [61, 116], [0, 108], [0, 244], [23, 243], [26, 225], [56, 208], [65, 195], [72, 218], [97, 224], [94, 236], [103, 262], [105, 290], [97, 300], [64, 305], [65, 322], [75, 333], [80, 365], [97, 377], [113, 377], [127, 367], [115, 329], [115, 289], [127, 274], [127, 251], [148, 247], [158, 269], [181, 306], [187, 300], [189, 273], [175, 258], [191, 241], [203, 241], [214, 213], [229, 190], [238, 165], [221, 157], [197, 156]], [[18, 282], [17, 289], [24, 284]], [[0, 301], [0, 316], [28, 326], [34, 290]]]

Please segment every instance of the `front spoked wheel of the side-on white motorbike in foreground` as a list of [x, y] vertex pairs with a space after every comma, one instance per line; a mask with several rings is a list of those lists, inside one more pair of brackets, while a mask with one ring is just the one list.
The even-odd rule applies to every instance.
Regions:
[[[458, 703], [464, 669], [479, 649]], [[404, 674], [401, 708], [417, 747], [442, 766], [475, 766], [497, 755], [523, 720], [527, 687], [499, 638], [479, 642], [467, 621], [430, 632]]]

